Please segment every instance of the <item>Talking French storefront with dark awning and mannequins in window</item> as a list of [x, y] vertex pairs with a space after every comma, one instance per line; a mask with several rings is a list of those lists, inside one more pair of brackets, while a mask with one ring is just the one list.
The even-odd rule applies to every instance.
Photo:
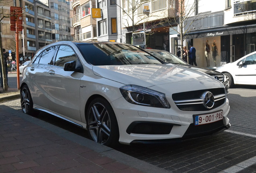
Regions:
[[[206, 40], [210, 47], [209, 54], [206, 54], [205, 51]], [[213, 68], [234, 62], [242, 56], [254, 52], [256, 25], [226, 26], [215, 30], [190, 32], [186, 42], [188, 45], [192, 43], [196, 48], [198, 66], [207, 67], [209, 58], [209, 67]]]

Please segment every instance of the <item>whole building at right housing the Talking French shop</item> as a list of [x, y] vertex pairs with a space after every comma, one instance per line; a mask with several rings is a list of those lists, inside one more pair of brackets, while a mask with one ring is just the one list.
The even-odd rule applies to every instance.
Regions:
[[[206, 40], [210, 44], [211, 67], [234, 62], [256, 50], [255, 0], [200, 0], [187, 22], [192, 25], [185, 28], [190, 29], [186, 42], [194, 44], [198, 66], [206, 66]], [[212, 53], [213, 43], [217, 45], [216, 57]]]

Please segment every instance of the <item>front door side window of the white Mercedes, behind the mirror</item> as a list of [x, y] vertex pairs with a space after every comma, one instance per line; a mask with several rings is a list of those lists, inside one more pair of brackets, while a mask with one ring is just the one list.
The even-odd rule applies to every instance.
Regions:
[[76, 54], [69, 46], [60, 46], [54, 65], [63, 67], [66, 62], [77, 60]]

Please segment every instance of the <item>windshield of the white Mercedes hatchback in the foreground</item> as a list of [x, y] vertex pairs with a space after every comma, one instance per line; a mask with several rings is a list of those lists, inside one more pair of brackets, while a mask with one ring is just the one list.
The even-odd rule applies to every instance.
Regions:
[[161, 64], [153, 56], [128, 44], [78, 44], [84, 58], [90, 64], [128, 65], [128, 64]]

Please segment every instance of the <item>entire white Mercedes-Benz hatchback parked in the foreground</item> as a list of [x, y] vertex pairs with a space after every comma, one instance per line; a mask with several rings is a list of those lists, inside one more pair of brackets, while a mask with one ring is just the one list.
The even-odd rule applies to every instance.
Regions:
[[21, 107], [83, 127], [108, 146], [180, 141], [230, 127], [221, 82], [115, 42], [56, 42], [39, 49], [23, 71]]

